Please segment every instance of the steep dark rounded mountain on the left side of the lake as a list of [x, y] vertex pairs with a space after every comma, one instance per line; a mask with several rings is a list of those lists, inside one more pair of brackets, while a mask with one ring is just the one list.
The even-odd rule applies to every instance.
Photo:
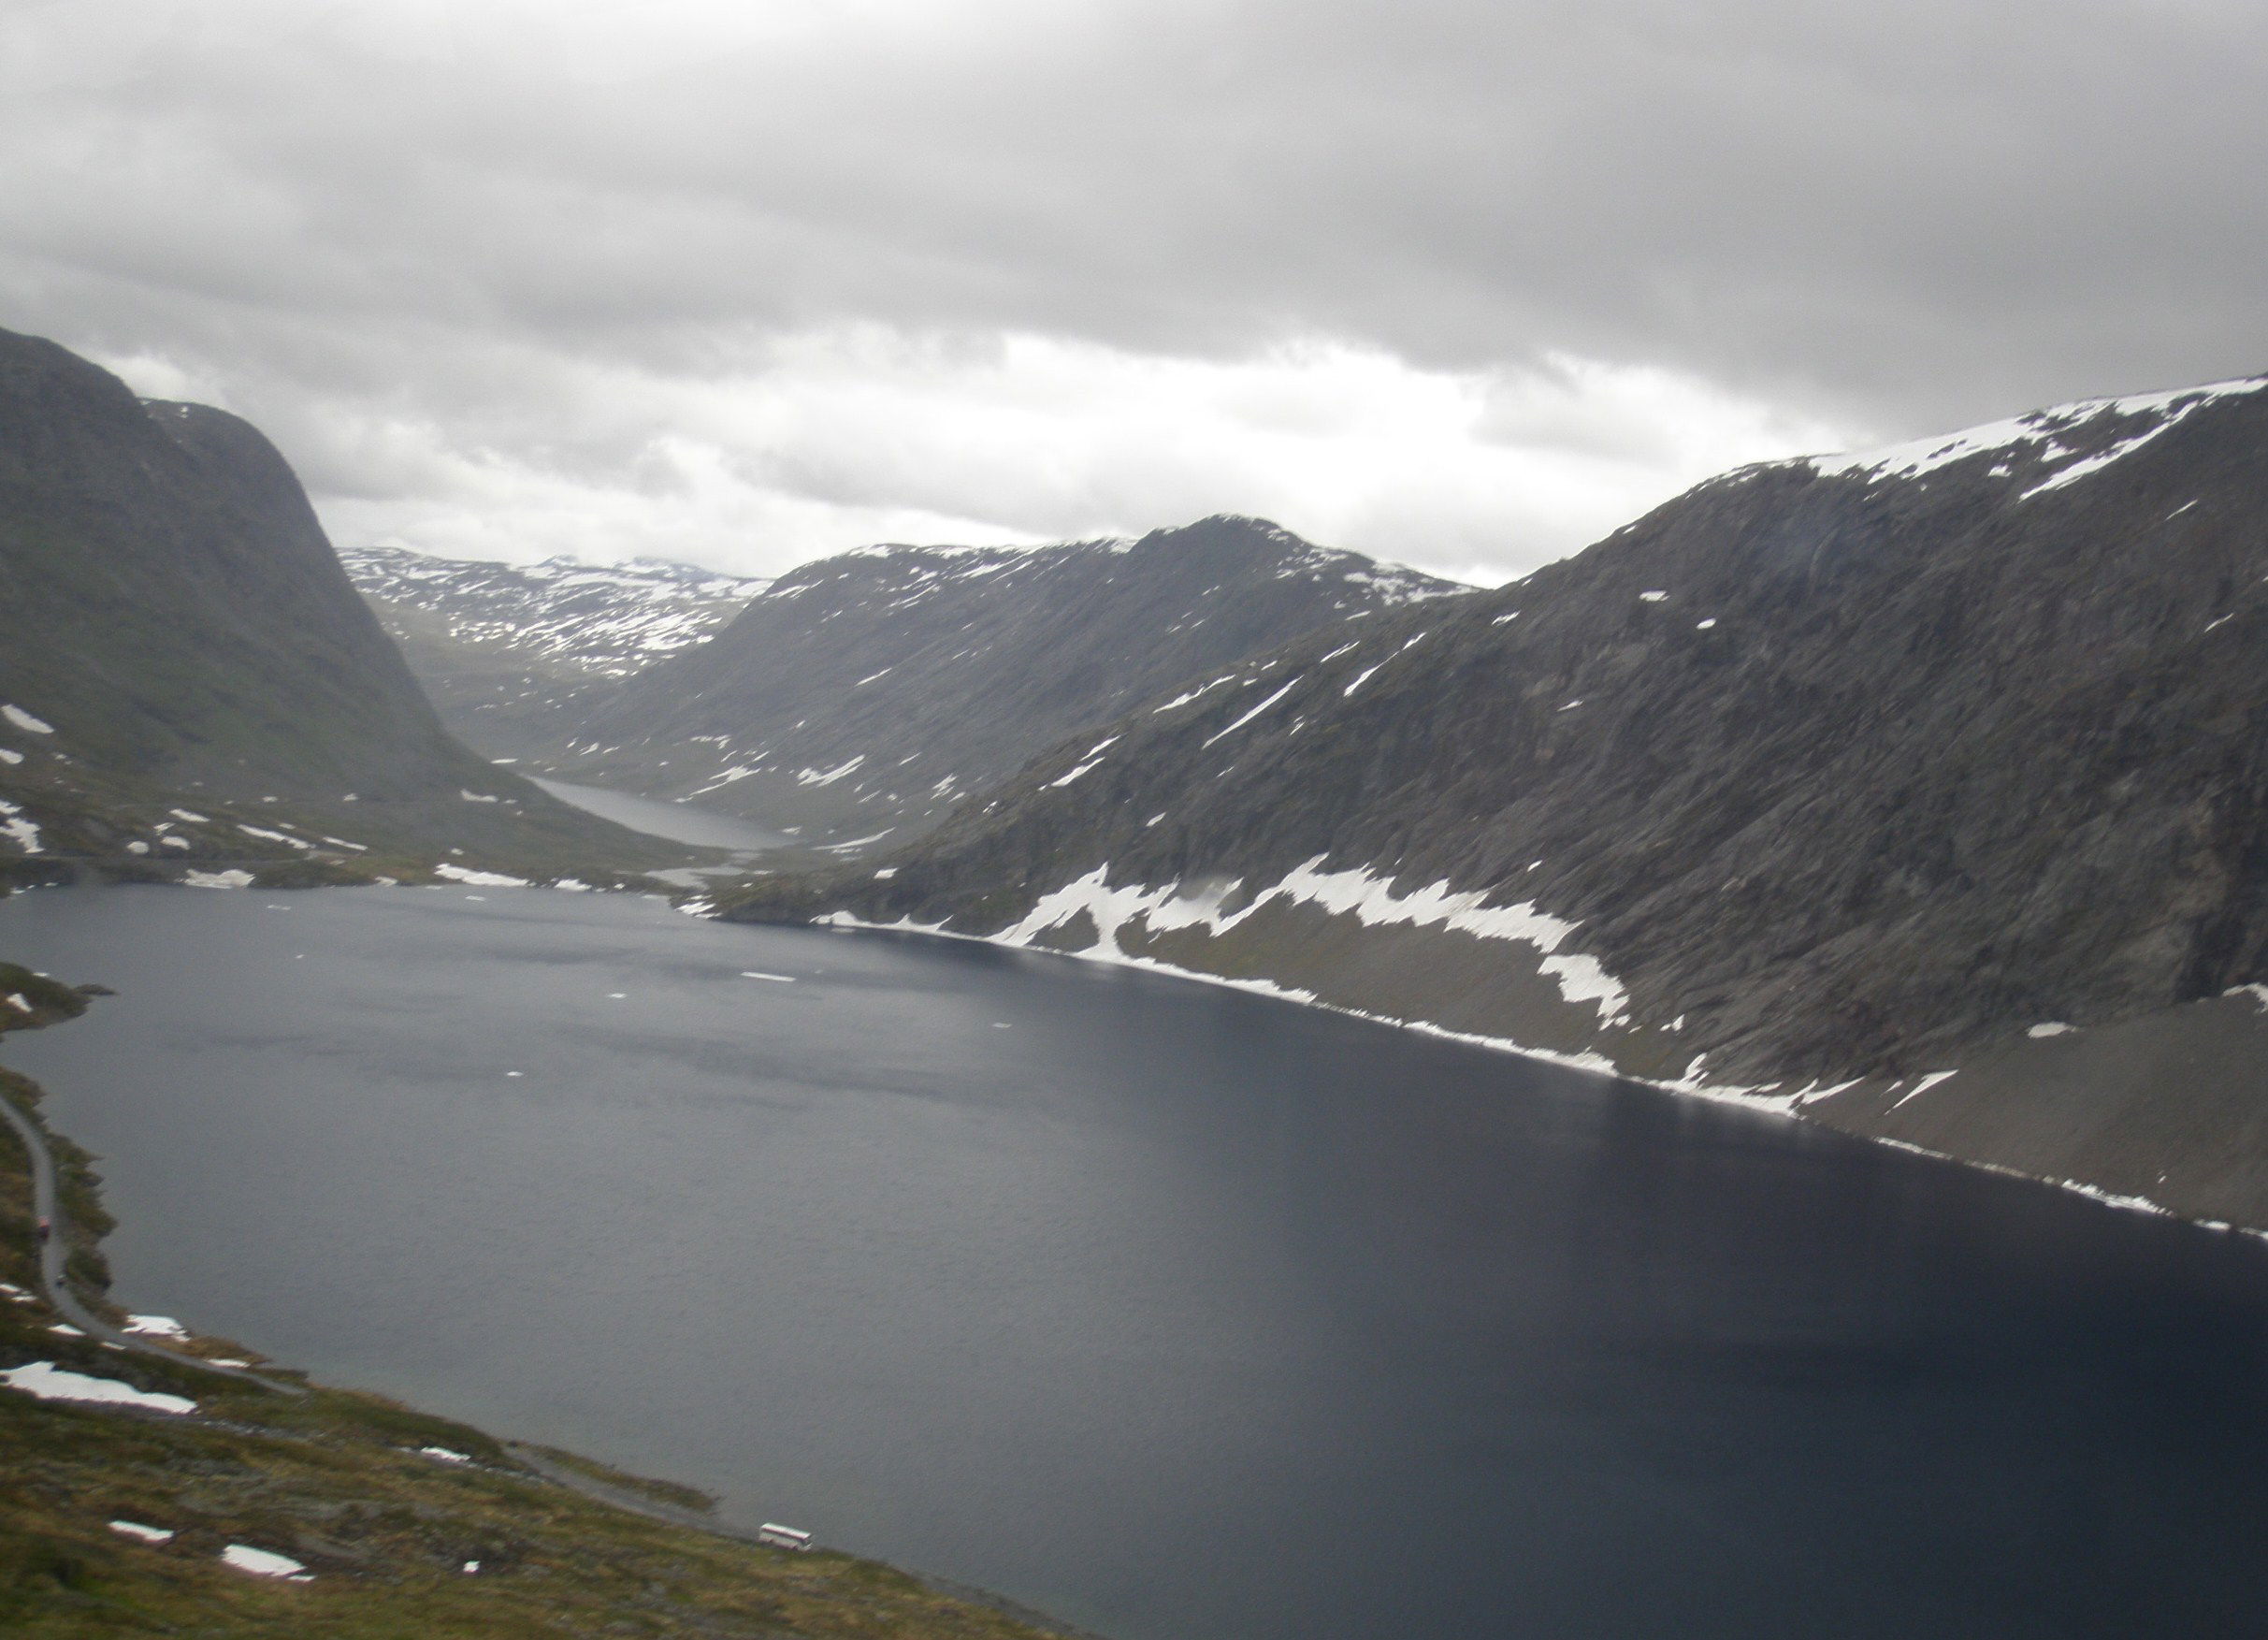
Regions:
[[150, 869], [662, 857], [442, 730], [256, 429], [9, 331], [0, 837]]

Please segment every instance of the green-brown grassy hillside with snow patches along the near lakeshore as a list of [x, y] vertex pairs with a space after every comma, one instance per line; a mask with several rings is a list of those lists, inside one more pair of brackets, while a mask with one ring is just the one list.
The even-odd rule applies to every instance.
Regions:
[[[0, 1030], [84, 1009], [0, 964]], [[39, 1089], [0, 1071], [0, 1098]], [[82, 1295], [109, 1225], [91, 1157], [50, 1136]], [[789, 1554], [649, 1520], [540, 1479], [494, 1438], [376, 1395], [284, 1395], [59, 1332], [36, 1277], [29, 1157], [0, 1125], [0, 1372], [52, 1363], [193, 1411], [0, 1388], [0, 1633], [9, 1635], [810, 1635], [1014, 1640], [1043, 1629], [844, 1554]], [[100, 1307], [98, 1307], [100, 1309]], [[184, 1350], [249, 1352], [191, 1338]], [[272, 1370], [270, 1370], [272, 1372]], [[685, 1488], [606, 1477], [678, 1506]], [[145, 1542], [111, 1527], [172, 1533]], [[231, 1545], [308, 1581], [231, 1567]], [[467, 1570], [476, 1567], [476, 1570]]]

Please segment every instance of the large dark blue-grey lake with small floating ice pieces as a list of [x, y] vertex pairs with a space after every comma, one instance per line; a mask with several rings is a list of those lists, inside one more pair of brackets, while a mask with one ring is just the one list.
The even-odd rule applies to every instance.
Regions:
[[1116, 1640], [2268, 1622], [2250, 1239], [621, 896], [43, 891], [0, 948], [120, 991], [9, 1059], [134, 1307]]

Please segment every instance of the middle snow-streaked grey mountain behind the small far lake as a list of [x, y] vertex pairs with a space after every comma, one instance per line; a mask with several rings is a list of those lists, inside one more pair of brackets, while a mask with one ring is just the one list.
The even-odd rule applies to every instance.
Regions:
[[533, 762], [871, 844], [1159, 690], [1454, 592], [1247, 517], [1132, 542], [871, 547], [780, 576], [710, 642], [587, 701]]

